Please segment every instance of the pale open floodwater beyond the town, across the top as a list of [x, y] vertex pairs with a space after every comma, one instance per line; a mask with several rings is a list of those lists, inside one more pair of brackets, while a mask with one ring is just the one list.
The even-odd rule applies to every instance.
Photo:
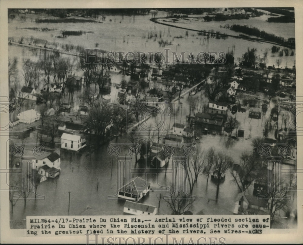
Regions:
[[[121, 51], [121, 52], [157, 52], [161, 51], [165, 53], [164, 48], [170, 48], [171, 51], [176, 51], [179, 55], [180, 52], [185, 52], [185, 59], [187, 59], [190, 52], [194, 55], [203, 52], [228, 52], [232, 49], [232, 45], [235, 44], [235, 61], [237, 58], [242, 57], [242, 55], [247, 51], [247, 48], [257, 49], [257, 56], [260, 58], [264, 56], [266, 49], [271, 50], [272, 44], [269, 43], [259, 43], [243, 39], [235, 39], [228, 37], [227, 39], [215, 39], [211, 38], [209, 44], [206, 45], [206, 40], [204, 36], [198, 36], [195, 31], [188, 31], [188, 39], [185, 39], [184, 29], [179, 29], [171, 27], [168, 32], [168, 26], [155, 24], [149, 19], [151, 15], [135, 15], [135, 16], [122, 16], [122, 15], [107, 15], [106, 19], [102, 23], [36, 23], [35, 19], [37, 15], [28, 14], [27, 19], [24, 22], [20, 22], [18, 16], [14, 20], [10, 20], [8, 23], [8, 37], [14, 37], [15, 41], [18, 41], [22, 36], [30, 38], [45, 39], [48, 42], [58, 43], [57, 48], [60, 49], [60, 45], [72, 44], [81, 45], [85, 48], [96, 48], [95, 44], [98, 43], [98, 48], [107, 51]], [[159, 12], [156, 17], [165, 17], [165, 12]], [[235, 34], [233, 31], [228, 29], [220, 28], [225, 24], [247, 24], [248, 26], [255, 26], [261, 30], [265, 30], [269, 33], [273, 33], [277, 36], [282, 36], [284, 38], [295, 37], [295, 23], [268, 23], [266, 22], [268, 15], [263, 15], [260, 17], [250, 18], [248, 20], [228, 20], [225, 22], [201, 22], [201, 19], [191, 22], [180, 19], [180, 22], [176, 23], [177, 26], [183, 26], [193, 29], [200, 30], [214, 30], [221, 33]], [[47, 16], [42, 16], [41, 18], [48, 18]], [[49, 17], [53, 18], [53, 17]], [[100, 20], [100, 19], [99, 19]], [[120, 23], [121, 22], [121, 23]], [[197, 22], [197, 23], [196, 23]], [[171, 24], [171, 23], [170, 23]], [[42, 32], [30, 29], [22, 28], [49, 28], [55, 29], [53, 31]], [[60, 31], [70, 30], [70, 31], [83, 31], [86, 32], [82, 36], [68, 36], [66, 38], [57, 38], [60, 36]], [[93, 33], [92, 33], [93, 32]], [[230, 33], [233, 32], [233, 33]], [[157, 34], [157, 38], [148, 39], [148, 33]], [[237, 33], [236, 35], [238, 35]], [[161, 35], [161, 38], [160, 38]], [[175, 38], [176, 36], [183, 36], [183, 38]], [[171, 45], [166, 45], [165, 47], [160, 47], [158, 41], [167, 41]], [[25, 41], [26, 43], [26, 41]], [[40, 46], [43, 46], [40, 44]], [[281, 59], [281, 67], [292, 67], [295, 61], [295, 56], [283, 56], [278, 57], [278, 54], [271, 54], [269, 52], [267, 56], [267, 65], [276, 65], [276, 60]], [[170, 60], [173, 61], [171, 52], [168, 54]], [[258, 61], [258, 60], [257, 60]]]

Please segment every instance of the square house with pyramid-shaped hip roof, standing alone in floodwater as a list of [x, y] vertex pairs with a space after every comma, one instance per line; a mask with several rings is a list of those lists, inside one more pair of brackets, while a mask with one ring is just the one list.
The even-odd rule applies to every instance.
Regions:
[[118, 190], [118, 197], [138, 202], [149, 190], [150, 183], [137, 176]]

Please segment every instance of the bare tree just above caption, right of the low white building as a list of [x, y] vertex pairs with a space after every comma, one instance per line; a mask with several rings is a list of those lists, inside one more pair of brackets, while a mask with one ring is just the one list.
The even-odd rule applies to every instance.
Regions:
[[[172, 188], [171, 188], [172, 189]], [[188, 199], [182, 192], [173, 192], [171, 199], [164, 199], [171, 208], [172, 214], [180, 215], [189, 211], [192, 208], [192, 204], [195, 199]]]

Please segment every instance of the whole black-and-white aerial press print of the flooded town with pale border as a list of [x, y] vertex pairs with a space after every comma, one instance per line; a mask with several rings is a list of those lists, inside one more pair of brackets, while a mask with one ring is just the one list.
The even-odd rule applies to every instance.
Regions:
[[[77, 216], [80, 223], [69, 228], [94, 234], [82, 217], [105, 216], [112, 230], [98, 233], [117, 236], [123, 229], [116, 224], [131, 228], [123, 222], [145, 217], [142, 233], [155, 236], [160, 225], [146, 221], [157, 216], [159, 222], [208, 216], [218, 217], [216, 225], [208, 218], [210, 228], [191, 227], [210, 235], [217, 226], [221, 238], [262, 233], [264, 224], [244, 231], [242, 223], [225, 220], [247, 216], [252, 224], [268, 217], [270, 233], [297, 233], [301, 12], [274, 2], [169, 3], [5, 9], [5, 229], [35, 237], [30, 229], [39, 226], [39, 233], [43, 224], [28, 217]], [[60, 227], [66, 229], [56, 235], [72, 234], [68, 224]], [[161, 227], [174, 235], [168, 224]], [[140, 234], [132, 229], [125, 236]]]

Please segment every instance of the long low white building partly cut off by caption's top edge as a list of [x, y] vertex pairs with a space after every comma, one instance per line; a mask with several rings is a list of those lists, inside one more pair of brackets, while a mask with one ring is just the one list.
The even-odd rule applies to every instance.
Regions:
[[133, 215], [156, 215], [157, 208], [155, 206], [126, 200], [123, 212]]

